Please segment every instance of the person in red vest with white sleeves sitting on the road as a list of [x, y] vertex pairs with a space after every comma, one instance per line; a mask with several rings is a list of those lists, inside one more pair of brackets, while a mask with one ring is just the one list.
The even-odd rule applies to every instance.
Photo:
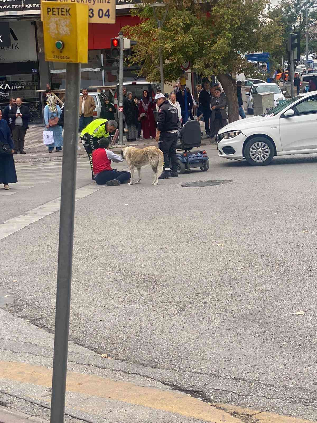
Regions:
[[130, 182], [130, 172], [117, 172], [111, 168], [112, 162], [123, 162], [123, 158], [108, 150], [109, 140], [101, 138], [100, 148], [93, 151], [93, 173], [98, 185], [120, 185]]

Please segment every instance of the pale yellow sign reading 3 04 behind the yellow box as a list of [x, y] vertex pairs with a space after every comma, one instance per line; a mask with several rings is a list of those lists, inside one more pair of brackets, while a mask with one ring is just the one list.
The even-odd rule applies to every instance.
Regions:
[[[58, 0], [78, 3], [77, 0]], [[115, 0], [81, 0], [88, 5], [88, 22], [94, 24], [115, 24]]]

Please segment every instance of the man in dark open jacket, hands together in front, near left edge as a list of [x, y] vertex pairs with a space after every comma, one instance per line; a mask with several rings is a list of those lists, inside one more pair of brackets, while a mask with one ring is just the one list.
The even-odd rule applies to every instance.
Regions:
[[16, 104], [11, 108], [9, 112], [9, 118], [11, 118], [11, 131], [14, 140], [14, 153], [25, 154], [24, 151], [24, 138], [27, 129], [29, 129], [28, 121], [30, 120], [30, 109], [22, 104], [22, 99], [19, 97], [16, 99]]

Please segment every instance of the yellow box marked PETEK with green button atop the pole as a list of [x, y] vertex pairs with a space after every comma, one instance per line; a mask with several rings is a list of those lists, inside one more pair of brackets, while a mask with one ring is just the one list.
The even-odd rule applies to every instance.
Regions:
[[88, 5], [43, 1], [45, 60], [88, 62]]

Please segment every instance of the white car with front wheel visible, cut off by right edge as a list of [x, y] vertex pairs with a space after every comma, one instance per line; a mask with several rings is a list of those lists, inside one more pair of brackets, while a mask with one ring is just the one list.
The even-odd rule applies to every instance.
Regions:
[[317, 153], [317, 91], [299, 94], [261, 116], [241, 119], [218, 132], [218, 155], [253, 166], [273, 156]]

